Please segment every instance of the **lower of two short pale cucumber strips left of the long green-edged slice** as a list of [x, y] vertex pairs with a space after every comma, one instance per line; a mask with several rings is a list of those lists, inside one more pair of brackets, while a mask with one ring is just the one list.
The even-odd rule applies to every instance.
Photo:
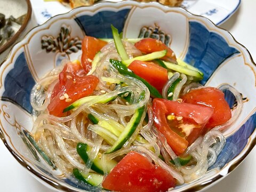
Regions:
[[111, 131], [107, 130], [105, 127], [101, 127], [99, 125], [93, 125], [89, 128], [91, 131], [100, 135], [109, 145], [114, 145], [118, 137], [112, 133]]

